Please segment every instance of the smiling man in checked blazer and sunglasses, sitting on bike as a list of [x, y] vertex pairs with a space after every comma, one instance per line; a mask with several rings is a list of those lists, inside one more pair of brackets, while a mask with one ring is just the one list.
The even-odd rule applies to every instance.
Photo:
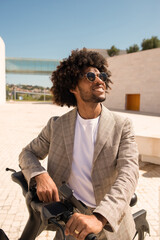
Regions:
[[[106, 60], [87, 49], [72, 51], [53, 72], [54, 102], [76, 106], [51, 118], [20, 154], [20, 166], [41, 201], [59, 201], [62, 182], [74, 190], [92, 215], [75, 213], [65, 227], [68, 239], [132, 240], [135, 226], [129, 202], [138, 179], [138, 153], [131, 122], [101, 102], [110, 88]], [[48, 155], [48, 172], [40, 159]], [[56, 239], [60, 240], [57, 235]]]

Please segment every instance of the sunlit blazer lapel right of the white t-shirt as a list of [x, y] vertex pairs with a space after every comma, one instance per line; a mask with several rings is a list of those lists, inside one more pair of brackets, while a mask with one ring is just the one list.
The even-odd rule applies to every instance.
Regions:
[[107, 142], [114, 125], [115, 120], [113, 118], [112, 113], [102, 105], [97, 140], [94, 149], [93, 164], [96, 161], [99, 153], [101, 152], [104, 144]]

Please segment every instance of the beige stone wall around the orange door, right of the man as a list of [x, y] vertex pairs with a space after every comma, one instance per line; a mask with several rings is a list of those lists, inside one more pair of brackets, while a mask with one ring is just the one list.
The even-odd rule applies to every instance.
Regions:
[[112, 90], [105, 105], [125, 110], [126, 94], [140, 94], [140, 112], [160, 114], [160, 48], [108, 58]]

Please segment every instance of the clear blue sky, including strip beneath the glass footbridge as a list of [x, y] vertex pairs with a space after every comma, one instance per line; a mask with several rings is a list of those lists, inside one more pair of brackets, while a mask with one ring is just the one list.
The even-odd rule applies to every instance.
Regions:
[[[6, 57], [61, 60], [76, 48], [160, 39], [159, 13], [160, 0], [0, 0], [0, 36]], [[8, 74], [7, 82], [50, 86], [48, 76]]]

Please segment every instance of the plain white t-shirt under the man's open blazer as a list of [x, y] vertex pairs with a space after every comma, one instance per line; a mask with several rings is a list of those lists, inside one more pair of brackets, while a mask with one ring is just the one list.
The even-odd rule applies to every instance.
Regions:
[[72, 170], [69, 186], [74, 196], [89, 207], [96, 207], [91, 181], [94, 145], [97, 137], [99, 117], [83, 119], [77, 113], [75, 126]]

